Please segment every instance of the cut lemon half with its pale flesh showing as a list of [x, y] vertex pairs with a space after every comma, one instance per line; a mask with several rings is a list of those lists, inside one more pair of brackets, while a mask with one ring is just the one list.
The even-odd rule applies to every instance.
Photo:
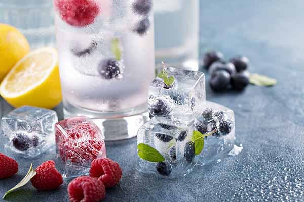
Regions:
[[57, 51], [40, 48], [24, 56], [2, 81], [0, 94], [14, 107], [58, 105], [62, 97]]

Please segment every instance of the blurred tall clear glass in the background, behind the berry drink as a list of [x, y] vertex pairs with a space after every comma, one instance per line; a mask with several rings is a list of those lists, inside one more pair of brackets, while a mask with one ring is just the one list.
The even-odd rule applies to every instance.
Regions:
[[199, 0], [154, 0], [156, 66], [197, 71]]

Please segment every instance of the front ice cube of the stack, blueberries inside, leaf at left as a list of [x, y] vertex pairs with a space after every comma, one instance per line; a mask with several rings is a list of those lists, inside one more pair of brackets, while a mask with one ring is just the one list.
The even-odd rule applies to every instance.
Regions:
[[138, 170], [170, 177], [186, 174], [196, 162], [192, 135], [192, 127], [182, 123], [164, 117], [151, 119], [138, 130], [138, 151], [148, 154], [149, 158], [155, 156], [150, 153], [152, 149], [164, 159], [151, 162], [150, 159], [141, 158], [139, 154]]

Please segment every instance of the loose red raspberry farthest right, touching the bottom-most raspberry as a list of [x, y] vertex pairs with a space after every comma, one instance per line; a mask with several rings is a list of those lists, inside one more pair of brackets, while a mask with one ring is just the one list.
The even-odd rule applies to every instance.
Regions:
[[91, 163], [90, 176], [101, 180], [106, 188], [117, 185], [122, 177], [119, 164], [109, 158], [94, 159]]

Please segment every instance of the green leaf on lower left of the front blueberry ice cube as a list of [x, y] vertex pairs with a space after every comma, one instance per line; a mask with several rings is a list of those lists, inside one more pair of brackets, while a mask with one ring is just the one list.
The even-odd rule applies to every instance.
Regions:
[[155, 148], [144, 144], [144, 143], [140, 143], [137, 145], [137, 154], [138, 156], [146, 161], [149, 162], [163, 162], [165, 161], [165, 158], [163, 157], [163, 155], [161, 155], [161, 153], [159, 153], [158, 150], [156, 150]]

